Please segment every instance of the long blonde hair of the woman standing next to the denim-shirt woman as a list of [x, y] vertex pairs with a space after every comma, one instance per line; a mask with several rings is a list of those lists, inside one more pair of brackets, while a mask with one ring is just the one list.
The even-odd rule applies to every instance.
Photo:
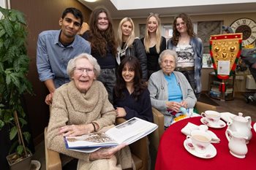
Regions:
[[146, 29], [145, 29], [145, 38], [144, 38], [144, 46], [146, 53], [149, 53], [149, 46], [150, 46], [150, 36], [148, 34], [148, 20], [154, 17], [157, 20], [157, 30], [156, 30], [156, 49], [157, 53], [160, 53], [160, 45], [161, 45], [161, 20], [158, 17], [158, 14], [151, 13], [147, 20], [146, 20]]

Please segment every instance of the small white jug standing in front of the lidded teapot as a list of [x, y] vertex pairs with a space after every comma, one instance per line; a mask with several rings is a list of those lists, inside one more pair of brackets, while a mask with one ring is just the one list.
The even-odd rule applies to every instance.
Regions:
[[248, 152], [246, 146], [246, 140], [248, 138], [239, 134], [237, 131], [231, 131], [230, 129], [227, 129], [225, 134], [227, 136], [230, 153], [237, 158], [244, 158]]

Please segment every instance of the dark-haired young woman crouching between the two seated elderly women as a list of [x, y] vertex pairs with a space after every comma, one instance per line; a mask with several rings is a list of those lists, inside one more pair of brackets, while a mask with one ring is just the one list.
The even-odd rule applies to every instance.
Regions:
[[138, 58], [127, 56], [121, 61], [113, 91], [113, 103], [117, 117], [127, 120], [139, 117], [153, 121], [149, 91], [142, 81]]

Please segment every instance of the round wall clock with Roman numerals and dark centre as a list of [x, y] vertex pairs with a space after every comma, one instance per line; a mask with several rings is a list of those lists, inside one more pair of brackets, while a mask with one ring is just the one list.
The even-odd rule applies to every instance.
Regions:
[[243, 33], [242, 46], [250, 45], [256, 40], [256, 23], [249, 18], [235, 20], [230, 27], [235, 33]]

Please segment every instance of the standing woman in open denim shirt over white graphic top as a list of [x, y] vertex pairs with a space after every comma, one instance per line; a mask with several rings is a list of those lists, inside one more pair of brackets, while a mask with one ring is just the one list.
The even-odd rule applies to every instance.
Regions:
[[176, 71], [182, 72], [189, 81], [195, 96], [199, 98], [201, 69], [203, 60], [203, 42], [193, 31], [192, 20], [185, 13], [179, 14], [173, 21], [173, 37], [167, 41], [167, 48], [178, 54]]

